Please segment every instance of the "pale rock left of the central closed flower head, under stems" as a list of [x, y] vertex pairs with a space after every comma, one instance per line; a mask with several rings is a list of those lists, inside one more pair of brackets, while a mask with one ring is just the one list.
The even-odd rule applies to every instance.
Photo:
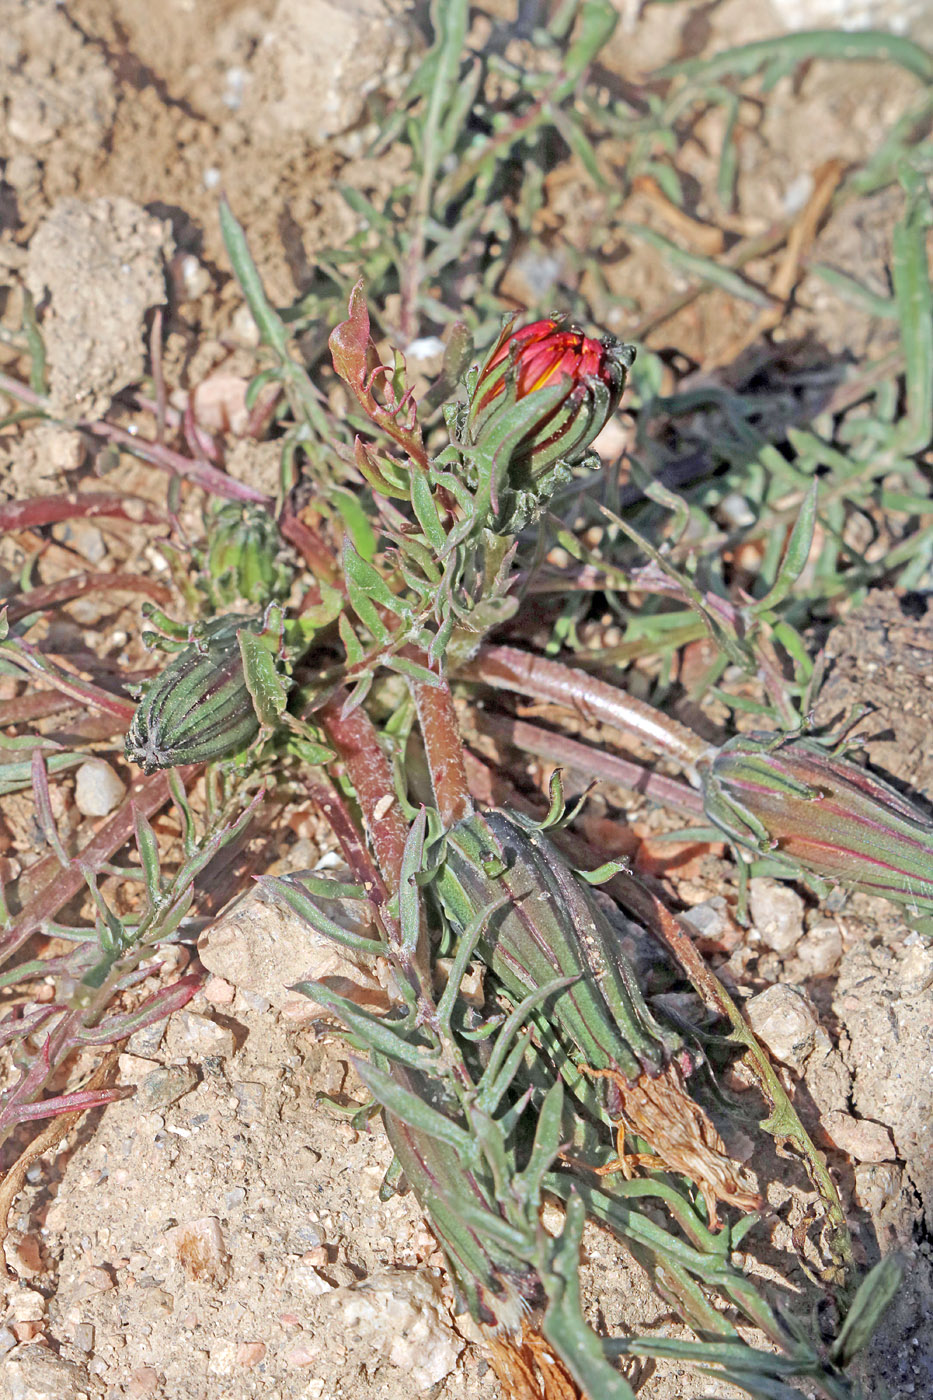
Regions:
[[[342, 918], [335, 906], [328, 913]], [[360, 928], [373, 937], [371, 928]], [[343, 997], [373, 1009], [385, 1009], [388, 998], [373, 973], [324, 934], [317, 934], [287, 906], [272, 904], [249, 893], [198, 944], [205, 967], [242, 993], [265, 997], [280, 1011], [297, 1009], [303, 1019], [322, 1012], [300, 993], [297, 981], [325, 981]]]

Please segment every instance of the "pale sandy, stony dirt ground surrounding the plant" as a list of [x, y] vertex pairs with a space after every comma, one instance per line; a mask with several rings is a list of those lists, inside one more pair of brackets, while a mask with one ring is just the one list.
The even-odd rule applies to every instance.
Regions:
[[[213, 377], [200, 409], [235, 428], [255, 328], [226, 266], [219, 195], [247, 228], [270, 298], [291, 301], [315, 251], [354, 232], [338, 181], [363, 193], [384, 189], [399, 160], [389, 154], [380, 167], [366, 154], [373, 132], [364, 98], [398, 94], [423, 38], [402, 0], [163, 0], [157, 22], [153, 10], [143, 0], [0, 0], [1, 307], [15, 321], [22, 287], [48, 300], [53, 402], [71, 417], [92, 416], [140, 378], [148, 318], [165, 301], [168, 277], [175, 321], [165, 374], [192, 389]], [[776, 32], [780, 20], [766, 0], [650, 4], [637, 18], [626, 7], [604, 62], [635, 81], [684, 52]], [[765, 230], [799, 197], [801, 172], [810, 179], [829, 157], [863, 158], [878, 122], [890, 123], [912, 91], [902, 73], [867, 64], [814, 64], [800, 80], [782, 80], [741, 153], [742, 234]], [[700, 190], [714, 146], [714, 133], [706, 134], [686, 161]], [[548, 207], [570, 245], [601, 217], [563, 175]], [[706, 213], [702, 197], [696, 213]], [[857, 258], [864, 281], [884, 293], [898, 213], [898, 195], [866, 196], [828, 221], [821, 246]], [[637, 195], [625, 214], [651, 217]], [[682, 288], [650, 249], [619, 245], [618, 230], [607, 227], [605, 242], [622, 251], [604, 269], [608, 293], [595, 309], [607, 329], [625, 333], [626, 322]], [[518, 273], [509, 295], [521, 300]], [[877, 354], [894, 333], [813, 279], [799, 302], [787, 339], [818, 343], [828, 358]], [[653, 343], [714, 367], [747, 329], [735, 318], [735, 301], [713, 293], [667, 321]], [[245, 442], [237, 451], [231, 470], [269, 489], [275, 452]], [[101, 465], [84, 452], [81, 438], [62, 428], [3, 438], [0, 500], [92, 480]], [[105, 484], [164, 498], [163, 480], [126, 459]], [[74, 522], [52, 535], [36, 582], [88, 563], [118, 570], [146, 550], [132, 522]], [[7, 578], [32, 547], [27, 536], [3, 542]], [[56, 648], [80, 659], [94, 644], [113, 664], [143, 665], [132, 638], [137, 613], [95, 609], [90, 599], [64, 609], [52, 624]], [[832, 638], [818, 720], [870, 701], [863, 729], [871, 760], [933, 801], [932, 636], [922, 601], [870, 599]], [[15, 693], [0, 683], [3, 699]], [[101, 738], [99, 748], [129, 781], [115, 741]], [[55, 791], [63, 834], [85, 833], [70, 784]], [[609, 792], [608, 801], [615, 819], [642, 823], [644, 837], [665, 825], [630, 794]], [[1, 815], [15, 874], [35, 854], [29, 808], [6, 799]], [[293, 816], [289, 841], [276, 853], [283, 869], [314, 865], [333, 846], [308, 812]], [[721, 896], [734, 897], [734, 869], [713, 855], [665, 878], [706, 928]], [[838, 909], [797, 899], [776, 938], [770, 892], [758, 893], [761, 925], [740, 935], [728, 924], [710, 948], [720, 949], [720, 974], [742, 991], [778, 980], [806, 991], [813, 1026], [803, 1049], [789, 1053], [787, 1084], [852, 1211], [860, 1260], [894, 1247], [908, 1257], [902, 1292], [862, 1362], [864, 1392], [933, 1400], [933, 952], [890, 906], [869, 899]], [[87, 1119], [29, 1169], [11, 1212], [11, 1277], [0, 1280], [0, 1393], [499, 1394], [474, 1329], [452, 1315], [440, 1253], [415, 1203], [380, 1197], [391, 1156], [381, 1131], [356, 1131], [322, 1102], [364, 1098], [346, 1049], [284, 990], [319, 972], [322, 956], [290, 916], [247, 896], [202, 942], [205, 988], [167, 1026], [125, 1047], [119, 1077], [136, 1096]], [[749, 1165], [762, 1175], [768, 1166]], [[806, 1191], [796, 1168], [779, 1170], [787, 1182], [773, 1189], [759, 1229], [786, 1247]], [[590, 1231], [586, 1249], [587, 1305], [609, 1331], [681, 1334], [618, 1247]], [[787, 1257], [787, 1287], [806, 1289]], [[633, 1379], [643, 1400], [735, 1393], [672, 1364]]]

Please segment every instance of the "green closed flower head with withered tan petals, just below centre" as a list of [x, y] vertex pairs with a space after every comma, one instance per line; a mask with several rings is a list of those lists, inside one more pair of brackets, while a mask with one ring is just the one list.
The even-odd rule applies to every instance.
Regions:
[[696, 1182], [710, 1225], [717, 1201], [755, 1210], [758, 1198], [744, 1189], [713, 1123], [688, 1093], [692, 1061], [679, 1033], [654, 1018], [618, 930], [551, 840], [517, 813], [493, 811], [454, 826], [444, 851], [434, 889], [455, 931], [507, 899], [489, 918], [478, 951], [510, 1001], [573, 977], [532, 1019], [545, 1044], [553, 1047], [556, 1035], [560, 1071], [576, 1092], [580, 1075], [584, 1084], [601, 1081], [619, 1161], [628, 1130], [667, 1168]]

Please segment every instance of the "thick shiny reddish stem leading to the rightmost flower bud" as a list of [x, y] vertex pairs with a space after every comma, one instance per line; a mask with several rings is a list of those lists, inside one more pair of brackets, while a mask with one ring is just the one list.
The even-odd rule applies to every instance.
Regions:
[[688, 776], [709, 749], [706, 741], [686, 725], [643, 700], [574, 666], [546, 661], [517, 647], [482, 647], [472, 661], [459, 668], [458, 675], [497, 690], [518, 690], [535, 700], [563, 704], [588, 722], [633, 734], [656, 753], [677, 759]]

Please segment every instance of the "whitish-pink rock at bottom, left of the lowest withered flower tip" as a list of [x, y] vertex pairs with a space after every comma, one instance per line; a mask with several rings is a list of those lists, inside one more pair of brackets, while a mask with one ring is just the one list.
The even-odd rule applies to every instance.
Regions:
[[403, 1371], [413, 1392], [430, 1390], [457, 1365], [465, 1343], [424, 1274], [387, 1270], [332, 1296], [357, 1343]]

